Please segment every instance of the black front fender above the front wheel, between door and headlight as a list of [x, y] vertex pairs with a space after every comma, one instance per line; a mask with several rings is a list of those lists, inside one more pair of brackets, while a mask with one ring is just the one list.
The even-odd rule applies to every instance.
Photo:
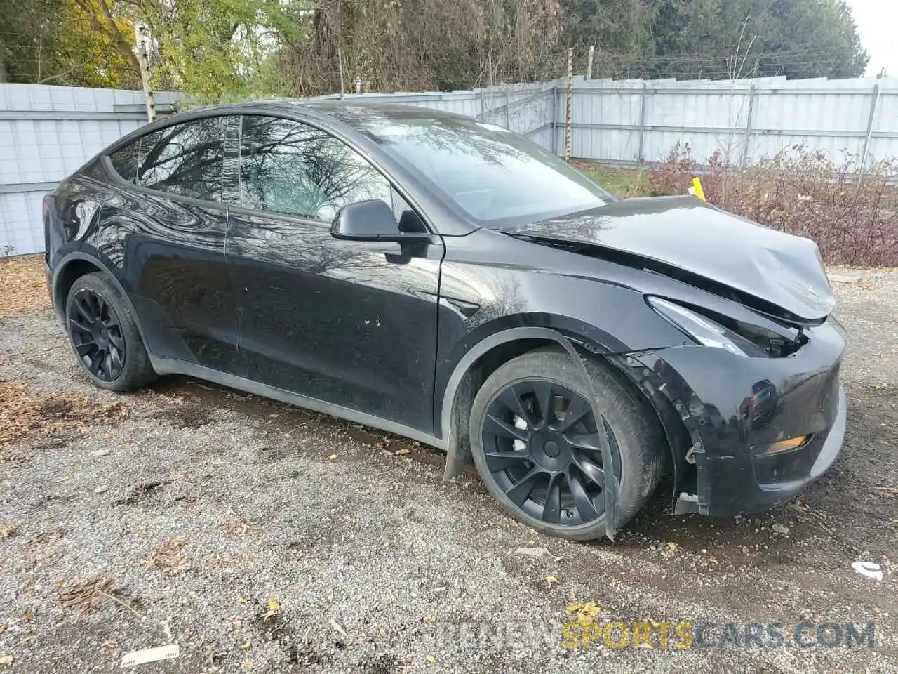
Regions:
[[[559, 274], [559, 268], [566, 272]], [[688, 341], [647, 306], [640, 276], [645, 274], [486, 229], [447, 238], [436, 358], [437, 433], [445, 434], [451, 418], [454, 387], [470, 365], [465, 357], [483, 350], [478, 345], [492, 335], [506, 335], [490, 339], [495, 347], [540, 339], [525, 338], [515, 329], [541, 327], [605, 354]]]

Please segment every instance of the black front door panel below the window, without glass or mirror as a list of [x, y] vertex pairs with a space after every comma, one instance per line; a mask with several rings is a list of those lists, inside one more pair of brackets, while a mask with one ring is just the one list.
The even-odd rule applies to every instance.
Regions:
[[243, 376], [433, 433], [443, 250], [232, 213]]

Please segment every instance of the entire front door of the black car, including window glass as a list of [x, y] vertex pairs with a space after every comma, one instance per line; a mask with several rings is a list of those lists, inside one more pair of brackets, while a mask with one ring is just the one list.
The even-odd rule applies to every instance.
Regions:
[[247, 376], [432, 432], [440, 237], [333, 238], [339, 208], [368, 199], [426, 229], [382, 173], [324, 130], [244, 115], [241, 153], [228, 253]]

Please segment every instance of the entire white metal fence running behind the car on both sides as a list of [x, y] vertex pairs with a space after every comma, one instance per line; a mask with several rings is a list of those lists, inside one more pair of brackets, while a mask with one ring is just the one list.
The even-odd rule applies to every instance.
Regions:
[[[471, 115], [564, 151], [566, 83], [450, 93], [365, 93]], [[846, 149], [868, 165], [898, 156], [898, 78], [589, 80], [571, 84], [571, 155], [614, 164], [661, 161], [676, 143], [753, 164], [797, 145]], [[158, 93], [164, 111], [178, 94]], [[328, 98], [333, 98], [330, 96]], [[347, 96], [348, 99], [355, 96]], [[0, 246], [43, 250], [40, 200], [66, 174], [145, 121], [134, 91], [0, 84]]]

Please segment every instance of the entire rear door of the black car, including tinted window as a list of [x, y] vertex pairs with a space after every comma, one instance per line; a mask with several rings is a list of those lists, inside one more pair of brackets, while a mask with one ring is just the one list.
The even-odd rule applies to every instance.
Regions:
[[[241, 374], [225, 263], [238, 116], [175, 124], [110, 156], [131, 184], [103, 207], [98, 248], [125, 276], [156, 356]], [[133, 167], [133, 171], [132, 171]]]

